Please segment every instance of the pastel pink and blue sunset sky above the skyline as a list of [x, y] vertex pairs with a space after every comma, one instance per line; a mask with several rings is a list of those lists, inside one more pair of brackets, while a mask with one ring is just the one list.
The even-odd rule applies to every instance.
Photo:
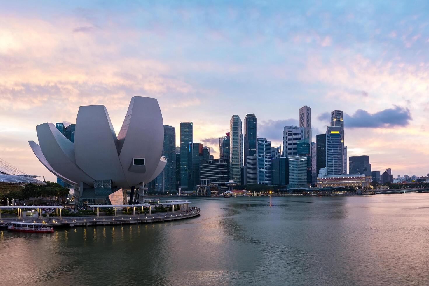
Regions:
[[[348, 156], [429, 173], [427, 1], [8, 1], [0, 9], [0, 158], [54, 181], [36, 125], [103, 104], [119, 132], [132, 96], [193, 121], [218, 157], [233, 114], [260, 137], [311, 108], [313, 137], [344, 111]], [[313, 140], [314, 141], [314, 140]]]

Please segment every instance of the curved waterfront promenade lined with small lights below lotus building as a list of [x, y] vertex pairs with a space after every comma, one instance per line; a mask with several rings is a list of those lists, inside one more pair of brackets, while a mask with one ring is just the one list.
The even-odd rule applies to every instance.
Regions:
[[43, 217], [39, 219], [3, 217], [0, 226], [6, 227], [12, 222], [43, 223], [50, 227], [74, 227], [74, 226], [97, 226], [97, 225], [116, 225], [133, 223], [159, 223], [171, 220], [183, 220], [199, 215], [201, 210], [193, 208], [189, 211], [163, 212], [155, 214], [136, 214], [136, 215], [118, 215], [118, 216], [71, 216], [71, 217]]

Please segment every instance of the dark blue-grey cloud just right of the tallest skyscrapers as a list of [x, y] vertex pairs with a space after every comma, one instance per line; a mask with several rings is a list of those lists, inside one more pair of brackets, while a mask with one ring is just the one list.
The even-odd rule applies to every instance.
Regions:
[[408, 108], [394, 105], [394, 108], [384, 109], [374, 114], [358, 109], [353, 115], [344, 114], [344, 125], [347, 127], [389, 128], [407, 126], [411, 120]]

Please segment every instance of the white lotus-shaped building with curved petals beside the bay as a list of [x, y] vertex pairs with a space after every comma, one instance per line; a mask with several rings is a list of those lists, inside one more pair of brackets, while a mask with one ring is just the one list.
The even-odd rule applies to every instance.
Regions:
[[49, 171], [74, 186], [77, 198], [85, 190], [88, 196], [91, 189], [94, 196], [101, 195], [108, 189], [100, 182], [106, 181], [111, 190], [131, 189], [134, 193], [135, 187], [152, 181], [167, 163], [161, 156], [163, 119], [154, 98], [131, 99], [118, 136], [106, 107], [87, 105], [79, 107], [74, 143], [53, 123], [38, 125], [37, 138], [39, 145], [28, 141], [34, 154]]

